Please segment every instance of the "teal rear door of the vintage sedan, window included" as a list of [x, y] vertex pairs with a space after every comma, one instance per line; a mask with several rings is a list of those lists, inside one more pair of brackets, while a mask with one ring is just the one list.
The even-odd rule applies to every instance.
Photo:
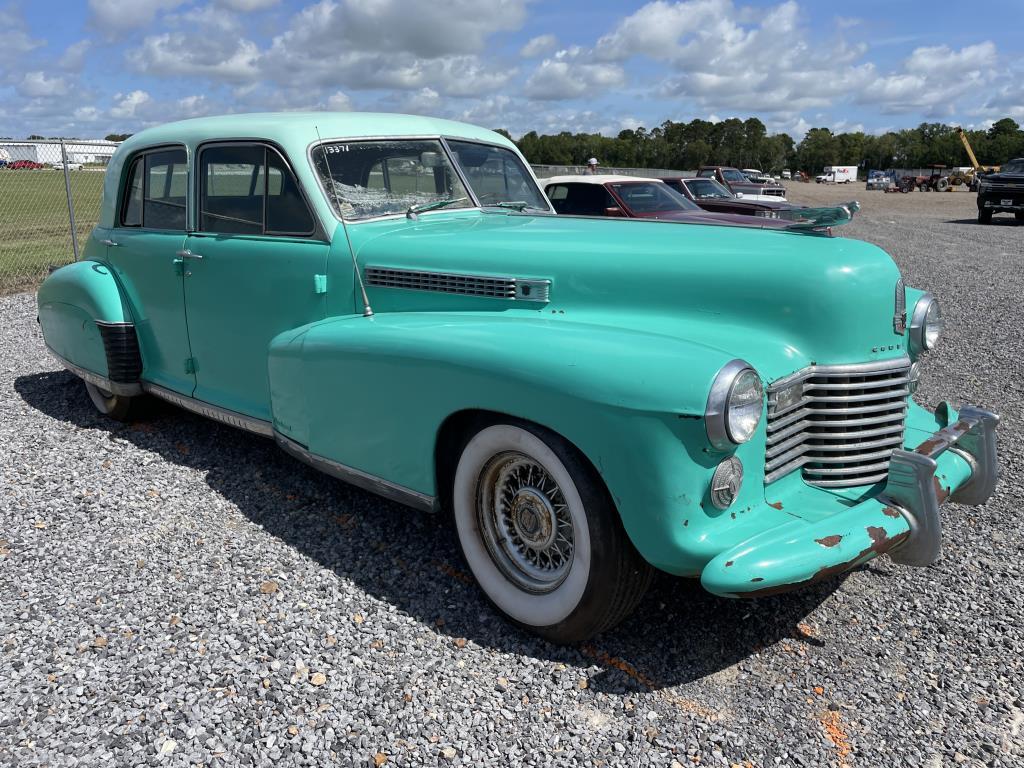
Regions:
[[191, 394], [182, 270], [188, 158], [183, 146], [142, 152], [125, 166], [113, 229], [98, 233], [131, 308], [142, 379]]

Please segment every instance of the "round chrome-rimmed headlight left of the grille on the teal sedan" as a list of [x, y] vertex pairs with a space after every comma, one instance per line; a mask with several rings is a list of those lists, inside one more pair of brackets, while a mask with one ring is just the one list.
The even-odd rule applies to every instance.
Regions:
[[761, 378], [743, 360], [727, 362], [711, 385], [705, 428], [711, 444], [720, 451], [746, 442], [761, 422], [764, 389]]

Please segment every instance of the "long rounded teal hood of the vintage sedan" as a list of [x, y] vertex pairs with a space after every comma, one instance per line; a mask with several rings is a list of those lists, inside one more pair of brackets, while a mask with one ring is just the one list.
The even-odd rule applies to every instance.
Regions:
[[371, 285], [376, 311], [526, 311], [697, 340], [766, 381], [904, 355], [899, 271], [873, 245], [754, 227], [445, 212], [348, 227], [360, 265], [549, 280], [535, 304]]

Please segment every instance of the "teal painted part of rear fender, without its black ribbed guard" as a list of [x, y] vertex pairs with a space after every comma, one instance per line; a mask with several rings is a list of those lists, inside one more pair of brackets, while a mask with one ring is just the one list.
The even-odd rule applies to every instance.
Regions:
[[96, 323], [132, 322], [111, 270], [97, 261], [77, 261], [43, 281], [37, 298], [46, 346], [69, 362], [106, 377], [106, 349]]

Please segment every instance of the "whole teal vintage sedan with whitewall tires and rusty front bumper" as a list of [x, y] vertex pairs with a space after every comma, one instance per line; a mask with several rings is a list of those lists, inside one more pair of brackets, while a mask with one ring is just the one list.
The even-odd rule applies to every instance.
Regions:
[[39, 321], [115, 419], [162, 397], [451, 510], [486, 596], [555, 642], [655, 568], [755, 597], [928, 565], [940, 504], [996, 482], [995, 415], [910, 397], [942, 317], [882, 250], [556, 216], [511, 141], [456, 122], [142, 131]]

